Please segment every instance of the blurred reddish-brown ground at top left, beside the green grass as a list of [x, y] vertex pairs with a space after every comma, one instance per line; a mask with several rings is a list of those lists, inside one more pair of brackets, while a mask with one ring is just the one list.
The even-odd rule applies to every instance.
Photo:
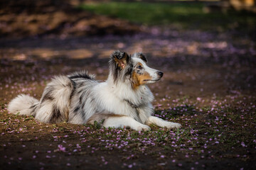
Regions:
[[81, 11], [70, 0], [4, 0], [0, 3], [0, 35], [5, 38], [122, 35], [140, 30], [127, 21]]

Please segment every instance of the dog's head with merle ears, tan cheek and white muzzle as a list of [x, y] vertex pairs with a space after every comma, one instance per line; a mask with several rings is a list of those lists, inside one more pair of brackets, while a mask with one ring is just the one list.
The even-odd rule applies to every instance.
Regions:
[[128, 55], [127, 52], [115, 51], [110, 57], [110, 74], [114, 82], [129, 81], [134, 89], [159, 81], [164, 73], [148, 67], [146, 62], [142, 52]]

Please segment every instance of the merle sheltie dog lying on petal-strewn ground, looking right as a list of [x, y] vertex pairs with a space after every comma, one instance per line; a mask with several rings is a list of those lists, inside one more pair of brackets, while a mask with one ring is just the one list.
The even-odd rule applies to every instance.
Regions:
[[146, 84], [159, 81], [163, 72], [146, 66], [142, 52], [128, 55], [115, 51], [110, 56], [110, 73], [104, 82], [87, 72], [54, 77], [43, 91], [41, 100], [21, 94], [9, 103], [11, 113], [33, 115], [42, 123], [92, 124], [106, 128], [150, 130], [149, 125], [180, 128], [152, 116], [153, 94]]

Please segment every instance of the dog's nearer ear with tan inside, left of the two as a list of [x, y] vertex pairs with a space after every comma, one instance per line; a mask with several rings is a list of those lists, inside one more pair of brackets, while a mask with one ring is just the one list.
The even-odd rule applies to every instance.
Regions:
[[112, 60], [117, 63], [117, 66], [124, 69], [129, 63], [130, 57], [127, 52], [121, 52], [119, 50], [114, 51], [111, 55]]

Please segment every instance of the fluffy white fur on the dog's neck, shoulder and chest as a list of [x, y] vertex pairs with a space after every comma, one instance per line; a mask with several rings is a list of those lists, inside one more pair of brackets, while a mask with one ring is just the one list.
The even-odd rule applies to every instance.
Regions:
[[[104, 108], [105, 113], [114, 113], [117, 115], [127, 115], [132, 118], [137, 118], [137, 113], [134, 109], [131, 109], [129, 103], [124, 102], [124, 98], [129, 99], [135, 105], [141, 105], [139, 108], [143, 113], [140, 114], [140, 120], [142, 123], [146, 122], [149, 115], [152, 114], [153, 106], [151, 106], [151, 101], [153, 101], [154, 96], [149, 91], [147, 86], [140, 86], [137, 91], [134, 91], [132, 87], [127, 86], [122, 83], [122, 85], [116, 86], [112, 84], [110, 79], [107, 82], [103, 82], [95, 86], [92, 90], [94, 91], [95, 101], [100, 108]], [[144, 96], [144, 103], [142, 103], [141, 97]]]

